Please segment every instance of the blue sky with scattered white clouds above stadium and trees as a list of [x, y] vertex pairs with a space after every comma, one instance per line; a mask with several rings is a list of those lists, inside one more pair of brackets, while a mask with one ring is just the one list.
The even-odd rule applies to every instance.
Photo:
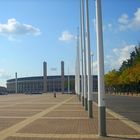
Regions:
[[[0, 86], [18, 77], [75, 74], [80, 0], [0, 0]], [[105, 73], [140, 42], [140, 0], [102, 0]], [[97, 74], [95, 0], [89, 0], [90, 47]], [[55, 71], [52, 68], [56, 69]]]

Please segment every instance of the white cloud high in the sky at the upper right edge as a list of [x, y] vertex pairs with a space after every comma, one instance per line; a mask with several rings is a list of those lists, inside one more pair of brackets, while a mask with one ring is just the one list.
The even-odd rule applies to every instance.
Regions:
[[133, 18], [129, 18], [127, 14], [121, 15], [118, 19], [120, 31], [127, 29], [138, 31], [140, 30], [140, 8], [134, 13]]

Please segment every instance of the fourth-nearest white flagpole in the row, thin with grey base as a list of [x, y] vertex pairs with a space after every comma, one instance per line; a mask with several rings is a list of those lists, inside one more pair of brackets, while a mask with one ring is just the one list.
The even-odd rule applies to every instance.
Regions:
[[84, 106], [84, 65], [83, 65], [83, 39], [82, 39], [82, 2], [80, 0], [80, 47], [81, 47], [81, 96], [82, 105]]

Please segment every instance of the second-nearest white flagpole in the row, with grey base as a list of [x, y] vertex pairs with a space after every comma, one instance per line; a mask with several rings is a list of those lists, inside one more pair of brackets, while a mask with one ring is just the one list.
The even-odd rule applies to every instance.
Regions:
[[91, 51], [88, 0], [86, 0], [86, 48], [87, 48], [87, 82], [88, 82], [88, 116], [92, 118], [92, 86], [91, 86]]

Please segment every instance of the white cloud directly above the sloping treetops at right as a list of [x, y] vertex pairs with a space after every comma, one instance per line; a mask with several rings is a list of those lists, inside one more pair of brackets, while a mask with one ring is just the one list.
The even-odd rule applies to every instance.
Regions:
[[124, 60], [129, 59], [130, 53], [134, 50], [135, 45], [125, 45], [122, 48], [115, 48], [111, 55], [105, 57], [105, 66], [107, 69], [118, 69]]

